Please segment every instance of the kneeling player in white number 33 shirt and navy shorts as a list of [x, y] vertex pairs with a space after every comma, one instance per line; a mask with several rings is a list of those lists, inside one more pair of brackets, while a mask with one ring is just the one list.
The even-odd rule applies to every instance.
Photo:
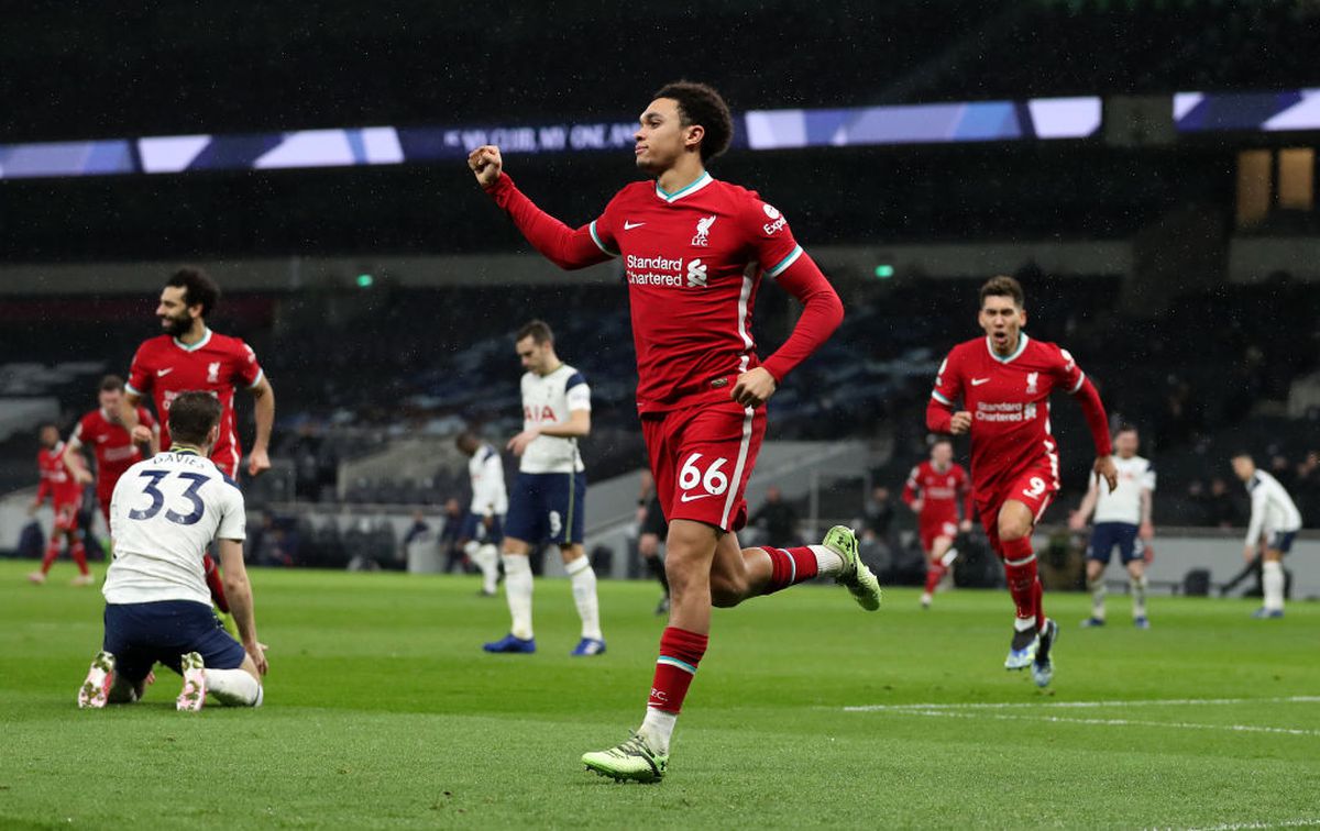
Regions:
[[[110, 503], [115, 561], [106, 572], [106, 634], [78, 690], [79, 707], [141, 698], [158, 661], [183, 677], [180, 710], [261, 703], [265, 656], [243, 566], [243, 493], [207, 458], [220, 402], [185, 392], [169, 409], [169, 451], [128, 468]], [[216, 541], [240, 645], [211, 612], [202, 557]]]

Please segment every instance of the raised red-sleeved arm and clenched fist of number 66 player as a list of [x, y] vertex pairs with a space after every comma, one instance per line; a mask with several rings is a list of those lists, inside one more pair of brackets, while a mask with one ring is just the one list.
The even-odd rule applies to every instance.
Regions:
[[467, 168], [482, 190], [510, 215], [527, 241], [550, 262], [562, 269], [577, 269], [618, 256], [612, 235], [599, 228], [598, 223], [593, 222], [574, 231], [536, 207], [504, 173], [498, 146], [487, 144], [469, 153]]

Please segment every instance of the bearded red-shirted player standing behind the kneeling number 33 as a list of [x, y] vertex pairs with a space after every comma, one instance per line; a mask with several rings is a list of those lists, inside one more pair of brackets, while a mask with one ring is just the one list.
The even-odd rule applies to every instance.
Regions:
[[[261, 372], [256, 354], [238, 338], [213, 332], [206, 315], [220, 299], [215, 282], [197, 268], [181, 268], [165, 281], [156, 317], [165, 334], [144, 340], [133, 355], [132, 369], [120, 404], [120, 419], [133, 430], [137, 426], [137, 402], [150, 394], [156, 416], [169, 418], [170, 402], [180, 393], [205, 390], [222, 406], [220, 433], [211, 448], [215, 467], [230, 479], [238, 479], [243, 448], [234, 426], [234, 389], [239, 385], [256, 400], [256, 441], [248, 456], [248, 475], [256, 476], [271, 467], [267, 446], [275, 423], [275, 390]], [[169, 447], [169, 425], [161, 431], [161, 446]], [[206, 555], [206, 584], [215, 605], [228, 613], [224, 584], [215, 569], [215, 559]]]

